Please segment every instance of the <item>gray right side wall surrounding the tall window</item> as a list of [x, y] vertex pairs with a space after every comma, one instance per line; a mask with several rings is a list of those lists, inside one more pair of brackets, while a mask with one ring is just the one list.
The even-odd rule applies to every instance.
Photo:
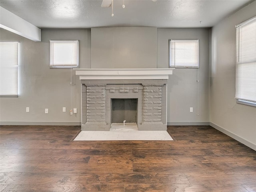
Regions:
[[212, 28], [211, 125], [256, 150], [256, 107], [237, 104], [235, 97], [235, 25], [256, 16], [256, 2]]

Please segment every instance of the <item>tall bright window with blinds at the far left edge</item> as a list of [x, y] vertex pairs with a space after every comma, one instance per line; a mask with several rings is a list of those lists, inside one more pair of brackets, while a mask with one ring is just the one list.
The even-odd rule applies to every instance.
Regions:
[[0, 42], [0, 96], [18, 96], [18, 42]]

